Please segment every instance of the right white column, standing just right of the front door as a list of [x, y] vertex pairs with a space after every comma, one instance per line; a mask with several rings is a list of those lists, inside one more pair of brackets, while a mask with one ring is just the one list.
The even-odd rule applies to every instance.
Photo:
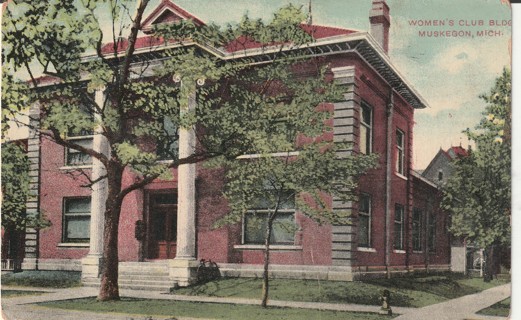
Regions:
[[[195, 92], [188, 98], [188, 105], [181, 106], [181, 113], [195, 112]], [[196, 148], [195, 128], [179, 130], [179, 159], [191, 156]], [[177, 252], [170, 260], [170, 278], [180, 286], [188, 286], [195, 278], [196, 219], [195, 219], [195, 164], [178, 167], [177, 190]]]

